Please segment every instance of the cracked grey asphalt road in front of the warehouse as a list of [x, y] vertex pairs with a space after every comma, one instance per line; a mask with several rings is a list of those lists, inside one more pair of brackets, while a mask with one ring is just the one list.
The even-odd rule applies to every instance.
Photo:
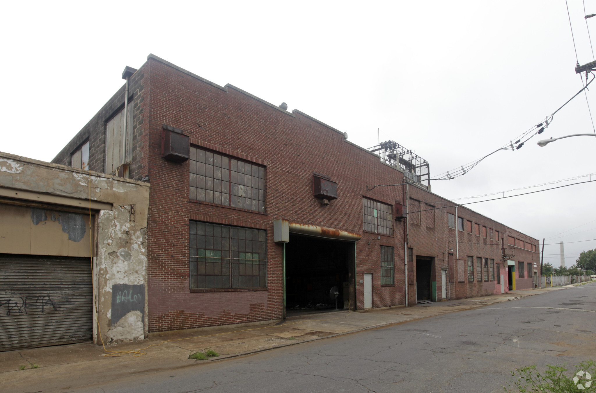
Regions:
[[502, 392], [519, 367], [596, 360], [595, 332], [586, 284], [76, 391]]

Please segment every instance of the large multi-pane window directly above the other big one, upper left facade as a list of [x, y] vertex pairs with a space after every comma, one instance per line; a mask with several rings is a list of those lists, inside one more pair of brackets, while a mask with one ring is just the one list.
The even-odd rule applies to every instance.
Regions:
[[190, 147], [190, 199], [265, 212], [265, 167]]

